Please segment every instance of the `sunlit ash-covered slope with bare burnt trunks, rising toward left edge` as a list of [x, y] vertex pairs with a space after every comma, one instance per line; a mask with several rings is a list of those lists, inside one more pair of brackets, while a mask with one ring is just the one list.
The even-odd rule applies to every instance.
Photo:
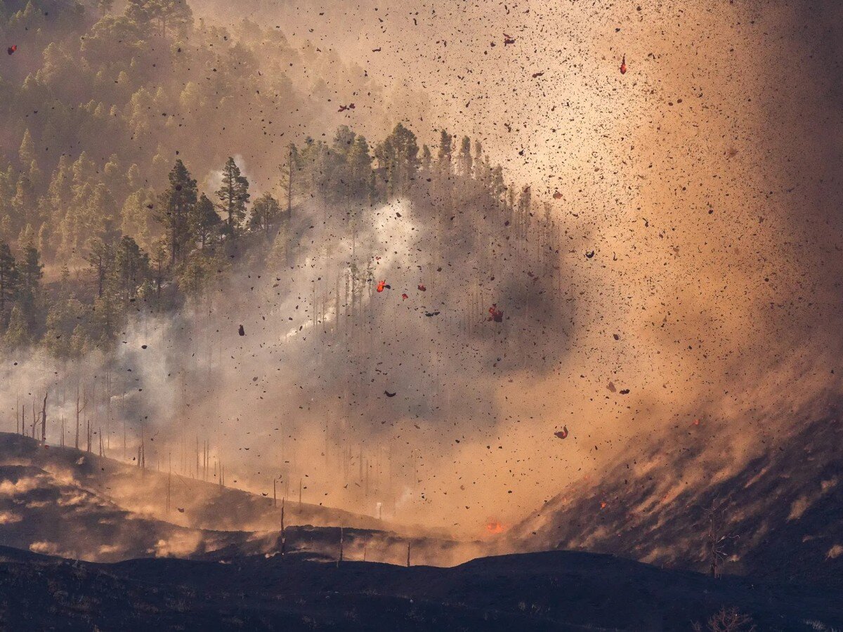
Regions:
[[[281, 508], [271, 498], [174, 478], [168, 512], [166, 474], [0, 434], [0, 545], [99, 562], [280, 552]], [[288, 553], [319, 560], [336, 559], [341, 547], [346, 560], [391, 563], [405, 562], [408, 545], [416, 563], [481, 554], [477, 543], [408, 537], [373, 518], [296, 502], [285, 507], [284, 526]]]

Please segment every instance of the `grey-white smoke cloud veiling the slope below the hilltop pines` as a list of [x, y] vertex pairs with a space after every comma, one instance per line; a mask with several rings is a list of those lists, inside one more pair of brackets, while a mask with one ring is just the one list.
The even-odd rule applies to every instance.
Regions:
[[49, 391], [51, 442], [63, 428], [76, 444], [79, 409], [80, 447], [102, 437], [106, 454], [147, 467], [199, 475], [201, 460], [228, 485], [276, 479], [282, 495], [401, 522], [448, 494], [465, 503], [470, 464], [456, 494], [438, 471], [468, 442], [501, 449], [502, 383], [552, 372], [571, 331], [554, 296], [558, 226], [472, 182], [297, 207], [277, 234], [250, 235], [207, 297], [132, 319], [113, 354], [7, 365], [26, 390], [17, 404], [8, 392], [8, 420]]

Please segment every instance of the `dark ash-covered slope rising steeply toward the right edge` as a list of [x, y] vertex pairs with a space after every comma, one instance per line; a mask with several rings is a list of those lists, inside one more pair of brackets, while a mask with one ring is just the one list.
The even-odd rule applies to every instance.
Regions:
[[838, 410], [767, 441], [760, 456], [731, 469], [711, 458], [711, 432], [705, 422], [676, 426], [602, 479], [572, 483], [511, 535], [532, 549], [587, 549], [708, 571], [713, 521], [722, 538], [719, 570], [839, 585]]

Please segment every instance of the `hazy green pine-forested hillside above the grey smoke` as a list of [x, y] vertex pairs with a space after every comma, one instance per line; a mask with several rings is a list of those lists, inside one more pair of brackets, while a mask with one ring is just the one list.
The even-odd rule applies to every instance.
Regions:
[[[352, 233], [396, 196], [442, 222], [470, 199], [526, 235], [529, 189], [507, 189], [479, 142], [441, 131], [420, 147], [401, 124], [370, 142], [353, 120], [319, 133], [378, 91], [360, 67], [294, 49], [282, 29], [207, 26], [183, 2], [115, 7], [0, 5], [17, 46], [0, 65], [6, 347], [108, 348], [127, 314], [200, 298], [239, 260], [274, 251], [293, 264], [301, 206], [339, 209], [337, 229]], [[373, 283], [349, 264], [355, 283]]]

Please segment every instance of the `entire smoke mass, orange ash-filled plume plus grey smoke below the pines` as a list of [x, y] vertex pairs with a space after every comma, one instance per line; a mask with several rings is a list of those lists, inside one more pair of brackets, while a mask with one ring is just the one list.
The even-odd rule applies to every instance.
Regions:
[[[840, 9], [435, 9], [379, 12], [354, 35], [361, 64], [427, 91], [422, 137], [470, 131], [545, 196], [545, 270], [521, 265], [535, 244], [507, 242], [498, 217], [475, 238], [482, 209], [395, 201], [346, 231], [351, 210], [316, 205], [293, 251], [276, 239], [207, 302], [133, 322], [115, 359], [6, 362], [19, 399], [61, 388], [72, 419], [63, 371], [111, 372], [127, 458], [143, 428], [165, 446], [148, 460], [185, 469], [198, 438], [230, 485], [281, 476], [308, 501], [475, 534], [679, 424], [701, 420], [703, 460], [725, 472], [821, 414], [840, 388], [840, 48], [825, 26]], [[314, 28], [330, 40], [328, 18]]]

